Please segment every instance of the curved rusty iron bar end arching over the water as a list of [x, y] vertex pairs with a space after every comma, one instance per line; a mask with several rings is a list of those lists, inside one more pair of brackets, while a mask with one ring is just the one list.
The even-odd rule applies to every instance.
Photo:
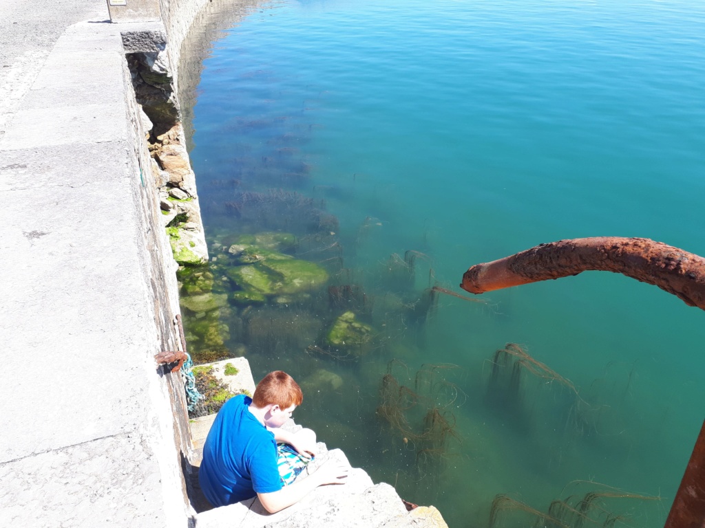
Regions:
[[688, 306], [705, 310], [705, 258], [639, 238], [592, 237], [541, 244], [472, 266], [462, 276], [460, 287], [482, 294], [587, 270], [621, 273], [654, 284]]

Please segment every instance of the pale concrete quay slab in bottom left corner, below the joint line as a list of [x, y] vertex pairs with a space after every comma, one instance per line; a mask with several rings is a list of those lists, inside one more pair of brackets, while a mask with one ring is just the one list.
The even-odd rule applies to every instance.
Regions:
[[0, 465], [0, 526], [164, 527], [161, 501], [140, 493], [159, 486], [144, 442], [118, 434]]

